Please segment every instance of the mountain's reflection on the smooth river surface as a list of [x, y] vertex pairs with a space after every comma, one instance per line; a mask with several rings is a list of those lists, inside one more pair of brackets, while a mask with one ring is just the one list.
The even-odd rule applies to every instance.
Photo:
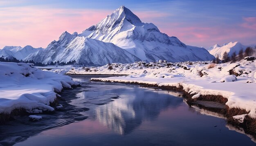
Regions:
[[113, 131], [126, 135], [138, 127], [143, 120], [154, 120], [167, 108], [176, 108], [182, 99], [148, 89], [128, 88], [118, 91], [122, 98], [98, 106], [96, 118]]

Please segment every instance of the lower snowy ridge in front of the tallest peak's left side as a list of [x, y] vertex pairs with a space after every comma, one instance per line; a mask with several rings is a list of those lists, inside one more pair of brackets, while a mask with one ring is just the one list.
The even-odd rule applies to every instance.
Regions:
[[58, 41], [51, 42], [46, 49], [30, 54], [25, 60], [35, 62], [76, 62], [101, 66], [108, 63], [130, 63], [139, 61], [139, 58], [112, 43], [79, 37], [77, 33], [65, 31]]

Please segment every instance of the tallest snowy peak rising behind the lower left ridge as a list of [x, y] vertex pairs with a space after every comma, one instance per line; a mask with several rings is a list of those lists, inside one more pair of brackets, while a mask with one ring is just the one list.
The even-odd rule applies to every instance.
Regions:
[[154, 24], [141, 22], [124, 6], [119, 7], [98, 24], [85, 29], [78, 36], [112, 42], [148, 62], [214, 59], [204, 48], [186, 46], [178, 38], [161, 33]]

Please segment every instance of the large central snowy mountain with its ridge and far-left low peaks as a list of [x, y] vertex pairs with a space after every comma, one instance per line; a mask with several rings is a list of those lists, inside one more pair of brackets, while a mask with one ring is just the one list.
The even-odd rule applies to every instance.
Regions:
[[[16, 55], [27, 47], [27, 52]], [[101, 66], [107, 63], [131, 63], [139, 60], [168, 62], [213, 60], [206, 49], [189, 46], [178, 38], [169, 37], [152, 23], [144, 23], [124, 6], [92, 25], [82, 33], [65, 31], [45, 49], [31, 46], [6, 46], [0, 51], [4, 57], [13, 56], [34, 62], [69, 62]], [[8, 51], [13, 50], [13, 55]]]

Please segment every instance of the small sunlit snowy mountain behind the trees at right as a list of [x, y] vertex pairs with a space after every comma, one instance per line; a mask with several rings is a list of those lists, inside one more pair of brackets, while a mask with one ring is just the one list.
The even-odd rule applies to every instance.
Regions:
[[247, 46], [241, 44], [240, 42], [229, 42], [226, 44], [223, 44], [222, 46], [219, 46], [218, 44], [211, 46], [208, 50], [210, 50], [209, 52], [214, 56], [217, 57], [219, 56], [220, 59], [223, 58], [223, 54], [225, 52], [227, 52], [229, 54], [229, 56], [232, 55], [232, 53], [236, 52], [236, 54], [238, 54], [238, 52], [243, 49], [243, 51], [245, 51], [245, 49], [247, 48]]

